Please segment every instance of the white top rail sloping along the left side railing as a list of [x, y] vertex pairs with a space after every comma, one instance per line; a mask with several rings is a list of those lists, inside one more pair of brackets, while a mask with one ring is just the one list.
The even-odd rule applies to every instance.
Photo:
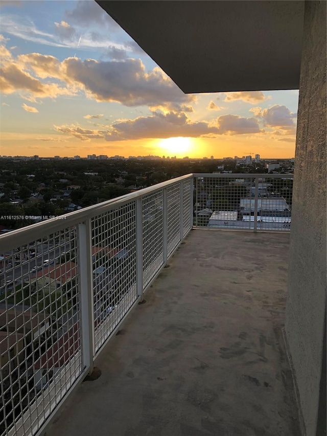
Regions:
[[177, 183], [181, 180], [187, 180], [192, 177], [192, 173], [186, 174], [174, 179], [166, 180], [148, 188], [140, 189], [139, 191], [132, 192], [130, 194], [125, 194], [99, 204], [88, 206], [87, 208], [79, 211], [64, 214], [62, 217], [65, 216], [65, 219], [59, 219], [59, 217], [56, 217], [54, 219], [49, 219], [27, 227], [19, 228], [18, 230], [13, 230], [6, 235], [0, 236], [0, 253], [5, 253], [6, 251], [12, 249], [12, 247], [26, 245], [31, 241], [46, 236], [47, 234], [50, 235], [55, 232], [59, 232], [69, 226], [79, 224], [86, 219], [93, 218], [97, 215], [101, 215], [102, 213], [118, 208], [119, 206], [122, 206], [135, 198], [150, 194], [158, 189], [168, 187], [173, 183]]

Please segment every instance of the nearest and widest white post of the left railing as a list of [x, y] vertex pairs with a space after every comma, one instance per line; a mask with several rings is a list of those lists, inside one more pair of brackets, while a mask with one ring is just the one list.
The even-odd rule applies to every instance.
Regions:
[[91, 222], [87, 219], [78, 225], [78, 250], [80, 260], [80, 290], [81, 290], [81, 325], [83, 364], [89, 367], [89, 373], [94, 370], [95, 355], [94, 332], [94, 296], [93, 271], [91, 256]]

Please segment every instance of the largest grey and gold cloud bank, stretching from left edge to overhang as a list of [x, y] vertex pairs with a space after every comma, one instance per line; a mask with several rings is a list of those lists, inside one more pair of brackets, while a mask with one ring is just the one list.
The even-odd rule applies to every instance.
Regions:
[[[7, 49], [6, 49], [7, 50]], [[9, 53], [9, 52], [8, 52]], [[9, 53], [10, 54], [10, 53]], [[58, 79], [63, 83], [40, 79]], [[5, 94], [25, 91], [27, 98], [54, 98], [80, 91], [96, 101], [125, 106], [167, 106], [193, 111], [193, 95], [185, 95], [159, 67], [146, 71], [140, 59], [124, 61], [81, 60], [69, 57], [60, 62], [51, 55], [30, 53], [7, 59], [0, 70], [0, 89]]]

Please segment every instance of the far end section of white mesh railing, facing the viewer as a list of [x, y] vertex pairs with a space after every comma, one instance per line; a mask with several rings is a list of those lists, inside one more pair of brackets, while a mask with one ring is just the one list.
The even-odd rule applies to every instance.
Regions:
[[293, 174], [193, 174], [195, 227], [290, 231]]

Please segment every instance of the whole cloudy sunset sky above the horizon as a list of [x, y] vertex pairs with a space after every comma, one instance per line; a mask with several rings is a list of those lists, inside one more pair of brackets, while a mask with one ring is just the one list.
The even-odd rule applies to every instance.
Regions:
[[183, 94], [92, 0], [0, 8], [0, 155], [294, 157], [297, 90]]

